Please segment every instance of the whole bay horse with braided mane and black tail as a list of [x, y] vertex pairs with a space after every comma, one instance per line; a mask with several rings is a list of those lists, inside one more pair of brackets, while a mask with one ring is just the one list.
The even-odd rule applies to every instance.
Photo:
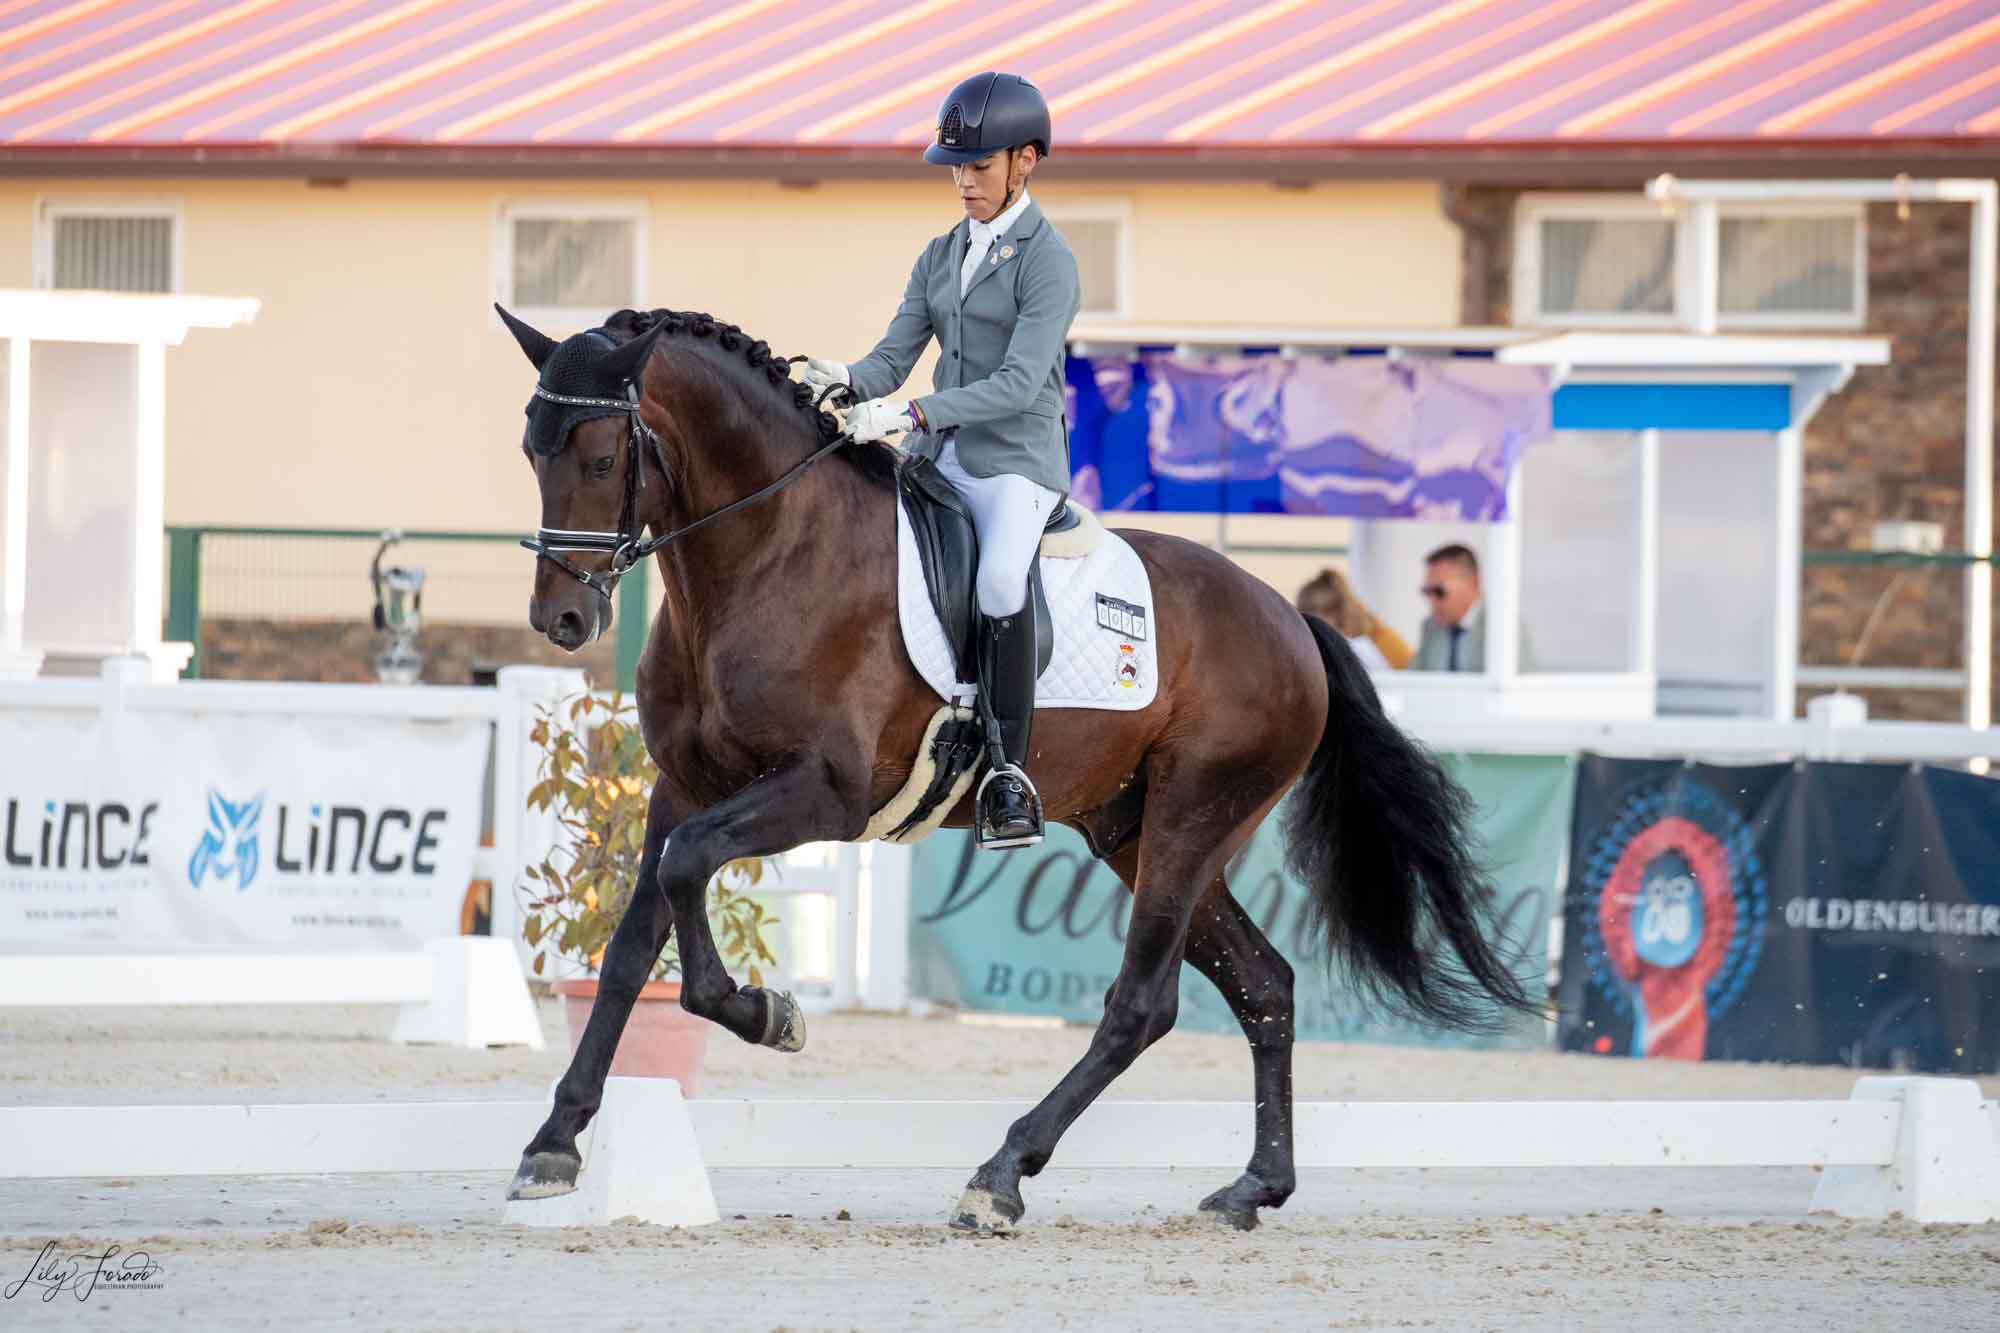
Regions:
[[[508, 1191], [532, 1199], [576, 1187], [576, 1135], [674, 927], [690, 1013], [748, 1043], [804, 1045], [790, 997], [724, 969], [708, 881], [738, 857], [856, 839], [912, 773], [940, 701], [896, 618], [892, 446], [846, 440], [784, 358], [708, 314], [620, 310], [562, 342], [500, 314], [540, 372], [522, 446], [542, 498], [542, 530], [522, 542], [538, 554], [528, 622], [576, 650], [610, 624], [632, 562], [652, 554], [664, 586], [636, 685], [660, 771], [640, 887], [660, 891], [632, 895], [604, 953]], [[1206, 546], [1122, 536], [1152, 578], [1158, 695], [1044, 719], [1028, 771], [1048, 819], [1084, 833], [1132, 893], [1124, 961], [1088, 1053], [972, 1173], [958, 1229], [1020, 1221], [1022, 1177], [1174, 1027], [1182, 961], [1228, 1001], [1254, 1065], [1256, 1149], [1200, 1207], [1248, 1231], [1292, 1195], [1292, 969], [1224, 865], [1294, 785], [1288, 863], [1350, 983], [1442, 1027], [1534, 1011], [1480, 933], [1492, 895], [1470, 799], [1384, 715], [1346, 640]], [[970, 805], [948, 825], [968, 827]]]

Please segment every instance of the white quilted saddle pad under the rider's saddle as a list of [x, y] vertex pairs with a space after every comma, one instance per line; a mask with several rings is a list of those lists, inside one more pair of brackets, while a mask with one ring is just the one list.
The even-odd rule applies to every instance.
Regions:
[[[1116, 532], [1102, 532], [1088, 554], [1044, 554], [1042, 590], [1056, 650], [1036, 681], [1034, 707], [1134, 713], [1150, 705], [1160, 689], [1160, 624], [1138, 552]], [[896, 504], [896, 612], [910, 660], [938, 699], [966, 703], [978, 695], [958, 679], [902, 504]]]

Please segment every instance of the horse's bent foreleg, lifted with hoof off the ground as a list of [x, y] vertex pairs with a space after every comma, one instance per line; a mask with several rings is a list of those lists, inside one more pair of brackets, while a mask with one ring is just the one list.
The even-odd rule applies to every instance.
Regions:
[[738, 987], [708, 929], [708, 881], [740, 857], [768, 857], [802, 843], [848, 839], [868, 823], [868, 787], [836, 791], [824, 755], [770, 773], [674, 829], [660, 859], [660, 889], [680, 927], [680, 1003], [744, 1041], [778, 1051], [806, 1045], [790, 995]]

